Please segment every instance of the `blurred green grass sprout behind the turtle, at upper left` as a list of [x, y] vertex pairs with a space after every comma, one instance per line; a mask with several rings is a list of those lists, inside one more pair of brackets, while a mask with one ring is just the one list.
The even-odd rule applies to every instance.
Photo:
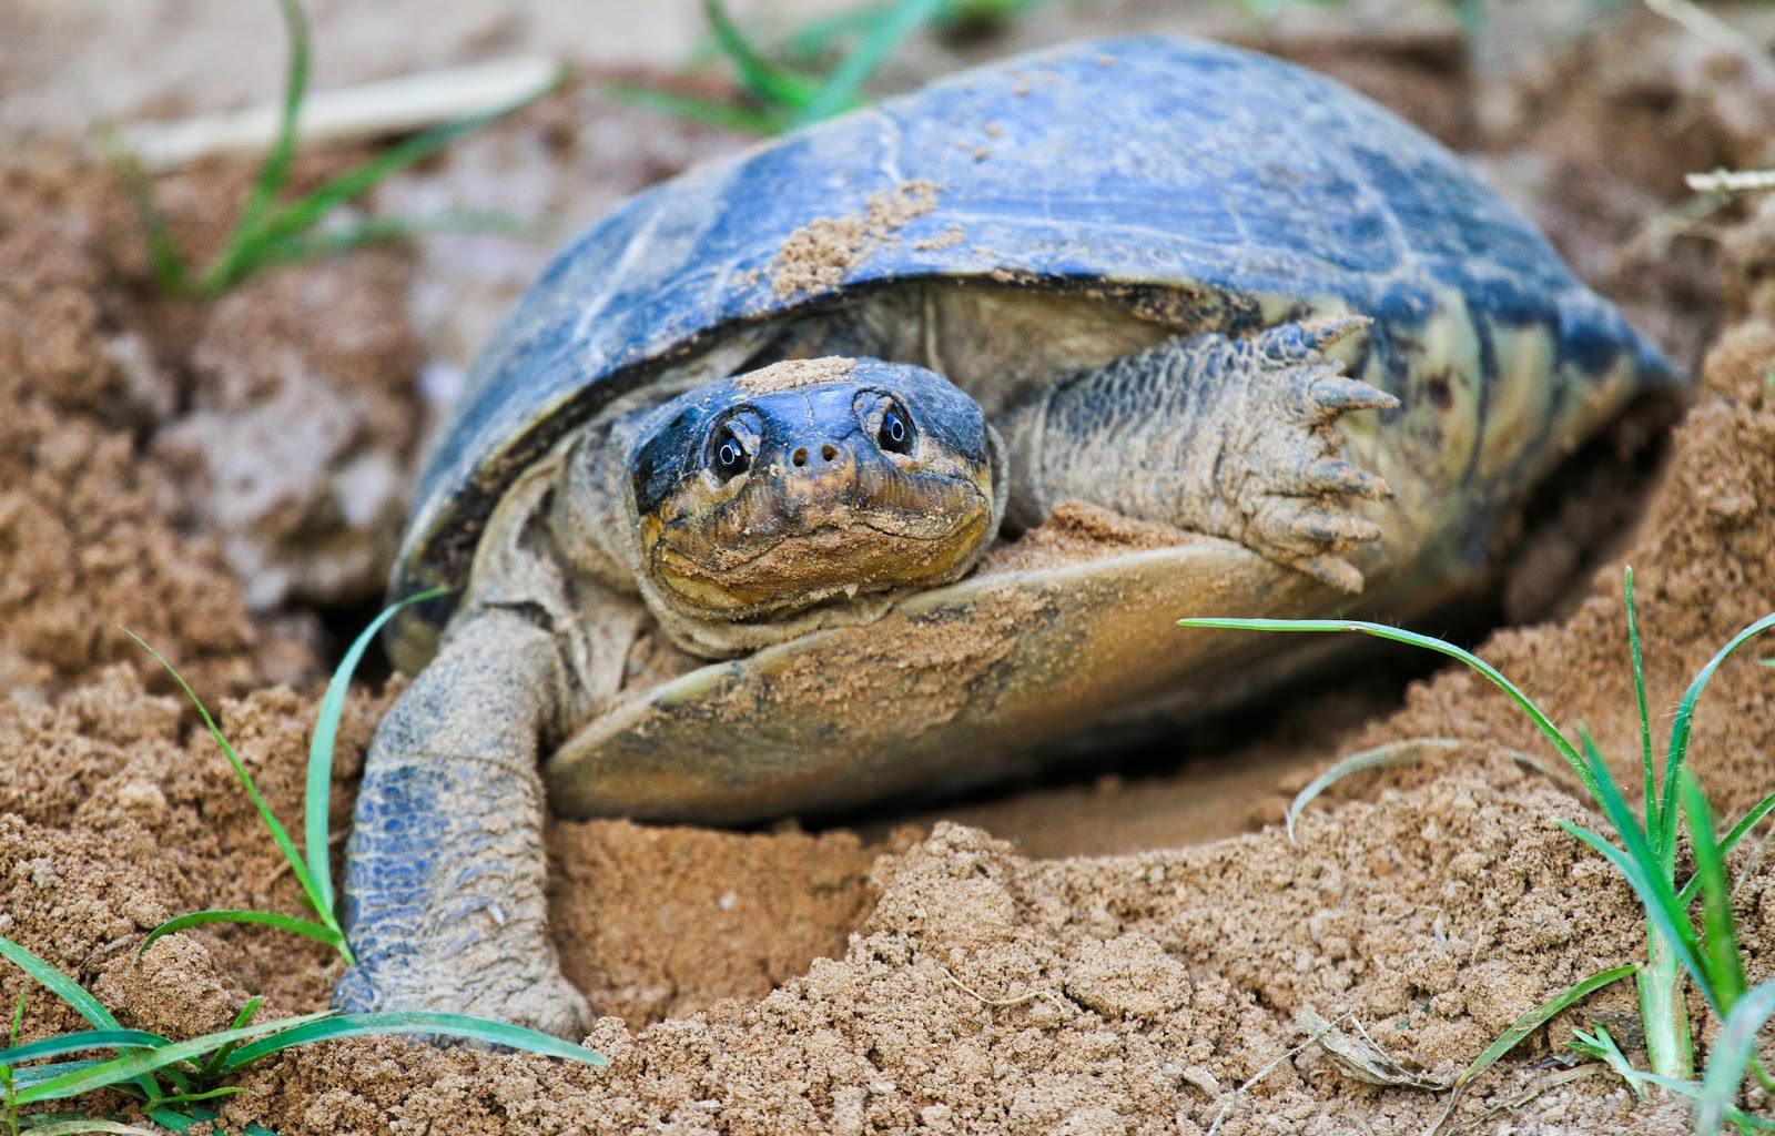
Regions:
[[[179, 296], [211, 298], [234, 288], [261, 268], [305, 261], [343, 252], [373, 241], [398, 240], [428, 231], [520, 233], [522, 222], [497, 213], [453, 209], [437, 217], [369, 217], [350, 224], [327, 224], [334, 215], [382, 181], [446, 149], [463, 135], [479, 130], [547, 94], [541, 87], [506, 106], [465, 115], [419, 131], [375, 158], [337, 174], [293, 201], [280, 201], [296, 156], [296, 121], [309, 89], [309, 23], [300, 0], [277, 0], [289, 37], [289, 64], [284, 73], [284, 99], [279, 108], [277, 135], [259, 167], [234, 225], [220, 252], [201, 270], [186, 261], [154, 199], [149, 176], [115, 138], [110, 151], [122, 170], [147, 234], [149, 264], [163, 291]], [[327, 224], [323, 227], [323, 224]]]

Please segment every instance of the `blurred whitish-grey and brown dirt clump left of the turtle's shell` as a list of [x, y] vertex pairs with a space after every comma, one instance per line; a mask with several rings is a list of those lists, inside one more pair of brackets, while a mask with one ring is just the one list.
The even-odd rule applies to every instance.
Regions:
[[154, 451], [254, 609], [353, 604], [387, 586], [419, 442], [408, 277], [389, 250], [298, 264], [202, 316], [190, 408]]

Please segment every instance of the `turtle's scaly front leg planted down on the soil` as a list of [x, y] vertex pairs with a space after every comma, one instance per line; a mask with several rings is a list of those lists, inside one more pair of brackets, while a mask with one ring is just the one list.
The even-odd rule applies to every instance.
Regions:
[[548, 632], [488, 609], [382, 719], [346, 845], [357, 966], [334, 1005], [444, 1010], [579, 1040], [591, 1021], [548, 937], [540, 738], [561, 705]]

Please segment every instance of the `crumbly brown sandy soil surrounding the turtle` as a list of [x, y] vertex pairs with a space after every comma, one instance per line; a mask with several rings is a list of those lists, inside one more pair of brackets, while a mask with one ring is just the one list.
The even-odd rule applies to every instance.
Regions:
[[[1665, 706], [1775, 598], [1775, 208], [1692, 225], [1668, 213], [1684, 169], [1764, 153], [1770, 76], [1649, 20], [1509, 82], [1450, 67], [1445, 34], [1432, 39], [1443, 46], [1321, 36], [1296, 50], [1480, 147], [1573, 261], [1702, 375], [1622, 557], [1562, 619], [1482, 648], [1558, 721], [1587, 722], [1626, 758], [1637, 726], [1621, 559], [1638, 573], [1647, 678]], [[486, 153], [524, 153], [568, 119], [579, 140], [556, 153], [586, 158], [584, 138], [632, 114], [568, 91]], [[600, 167], [586, 195], [733, 146], [659, 133], [637, 163]], [[321, 156], [304, 176], [348, 158]], [[453, 163], [469, 160], [426, 176], [460, 176]], [[575, 162], [559, 169], [584, 170]], [[183, 240], [217, 240], [218, 202], [243, 176], [218, 163], [163, 186]], [[561, 179], [532, 185], [547, 195]], [[117, 625], [220, 703], [293, 818], [328, 619], [383, 572], [383, 509], [399, 509], [430, 414], [417, 375], [449, 359], [415, 312], [451, 293], [406, 314], [390, 302], [426, 295], [415, 277], [437, 254], [351, 256], [222, 304], [172, 305], [153, 298], [126, 201], [101, 169], [36, 146], [0, 165], [0, 934], [80, 976], [130, 1026], [220, 1028], [252, 994], [275, 1014], [320, 1008], [337, 964], [263, 930], [176, 935], [131, 962], [169, 914], [298, 911], [300, 896], [227, 767]], [[327, 335], [307, 332], [316, 318]], [[280, 460], [247, 460], [266, 453]], [[378, 509], [341, 506], [364, 497], [341, 488], [353, 477], [385, 486], [369, 493]], [[1770, 682], [1747, 660], [1702, 703], [1693, 761], [1722, 808], [1775, 781]], [[392, 690], [351, 701], [335, 827]], [[609, 1069], [332, 1044], [259, 1069], [225, 1115], [284, 1136], [1198, 1134], [1223, 1115], [1228, 1134], [1420, 1132], [1440, 1097], [1356, 1083], [1317, 1047], [1250, 1093], [1234, 1086], [1301, 1042], [1305, 1008], [1354, 1015], [1395, 1056], [1447, 1074], [1551, 990], [1633, 958], [1644, 932], [1624, 886], [1551, 824], [1583, 806], [1502, 756], [1539, 746], [1498, 692], [1443, 673], [1384, 712], [1393, 703], [1384, 683], [1303, 694], [1237, 753], [1179, 740], [1163, 774], [1006, 793], [912, 827], [556, 825], [556, 935], [607, 1015], [591, 1040]], [[1308, 813], [1299, 848], [1267, 824], [1322, 761], [1424, 735], [1471, 746], [1342, 785]], [[1099, 852], [1115, 854], [1083, 856]], [[1740, 891], [1752, 978], [1775, 969], [1770, 903], [1764, 868]], [[0, 1005], [20, 989], [0, 971]], [[1676, 1104], [1637, 1104], [1601, 1076], [1550, 1086], [1534, 1065], [1573, 1026], [1626, 1008], [1613, 992], [1557, 1021], [1475, 1086], [1461, 1122], [1686, 1131]], [[28, 1038], [75, 1026], [32, 998]]]

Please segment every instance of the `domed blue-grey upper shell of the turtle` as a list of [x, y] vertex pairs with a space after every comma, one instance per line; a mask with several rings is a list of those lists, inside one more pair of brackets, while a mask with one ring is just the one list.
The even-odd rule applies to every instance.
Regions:
[[1521, 215], [1367, 98], [1214, 43], [1069, 44], [692, 169], [579, 236], [476, 366], [419, 483], [394, 595], [460, 584], [517, 472], [664, 360], [831, 300], [779, 293], [785, 241], [916, 181], [935, 206], [850, 264], [840, 293], [941, 275], [1333, 296], [1376, 318], [1384, 357], [1454, 289], [1482, 339], [1544, 328], [1548, 382], [1624, 360], [1638, 382], [1670, 380]]

